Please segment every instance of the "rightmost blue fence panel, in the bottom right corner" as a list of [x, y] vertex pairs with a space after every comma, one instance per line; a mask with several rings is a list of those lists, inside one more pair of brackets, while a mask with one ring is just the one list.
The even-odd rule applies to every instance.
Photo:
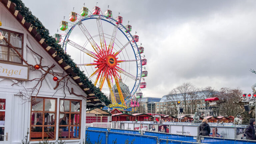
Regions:
[[242, 139], [229, 139], [229, 138], [216, 138], [201, 136], [202, 143], [209, 144], [256, 144], [256, 141], [242, 140]]

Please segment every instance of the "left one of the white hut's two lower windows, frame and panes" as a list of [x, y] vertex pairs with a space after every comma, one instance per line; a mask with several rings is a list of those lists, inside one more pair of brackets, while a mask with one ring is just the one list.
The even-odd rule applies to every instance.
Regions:
[[31, 98], [30, 140], [55, 140], [57, 99]]

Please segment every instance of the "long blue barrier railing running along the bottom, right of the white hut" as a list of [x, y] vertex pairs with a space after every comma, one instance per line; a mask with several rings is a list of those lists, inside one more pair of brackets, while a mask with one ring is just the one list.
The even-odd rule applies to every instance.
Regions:
[[[243, 140], [232, 138], [219, 138], [208, 136], [186, 136], [175, 135], [161, 132], [147, 132], [136, 130], [121, 130], [121, 129], [107, 129], [88, 127], [86, 130], [90, 135], [92, 142], [96, 142], [102, 138], [102, 144], [112, 144], [113, 141], [117, 141], [117, 144], [124, 143], [126, 139], [132, 141], [135, 138], [135, 143], [143, 142], [146, 144], [256, 144], [255, 140]], [[100, 136], [99, 136], [100, 135]], [[146, 139], [149, 138], [149, 139]], [[167, 142], [168, 141], [168, 142]]]

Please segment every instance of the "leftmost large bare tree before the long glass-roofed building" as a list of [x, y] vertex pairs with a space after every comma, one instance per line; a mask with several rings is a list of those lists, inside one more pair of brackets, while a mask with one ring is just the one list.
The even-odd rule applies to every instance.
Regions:
[[183, 107], [183, 113], [192, 113], [192, 106], [195, 105], [195, 99], [198, 93], [198, 89], [189, 83], [183, 83], [180, 86], [172, 89], [168, 96], [167, 101], [170, 101], [170, 109], [175, 113], [178, 113], [177, 101], [181, 101]]

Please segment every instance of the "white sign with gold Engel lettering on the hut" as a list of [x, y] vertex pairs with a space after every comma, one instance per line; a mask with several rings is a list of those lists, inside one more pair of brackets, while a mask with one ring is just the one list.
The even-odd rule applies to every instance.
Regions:
[[29, 67], [26, 65], [0, 62], [0, 77], [28, 80]]

